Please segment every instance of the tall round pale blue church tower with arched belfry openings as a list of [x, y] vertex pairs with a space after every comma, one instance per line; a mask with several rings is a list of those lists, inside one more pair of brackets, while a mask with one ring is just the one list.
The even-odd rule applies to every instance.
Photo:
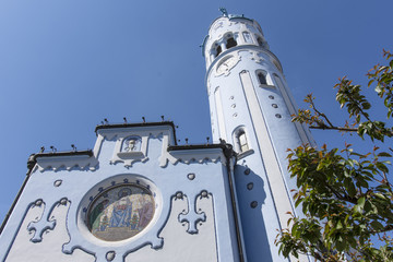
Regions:
[[287, 212], [297, 214], [287, 148], [313, 142], [291, 122], [296, 105], [261, 26], [221, 11], [203, 43], [213, 141], [225, 140], [238, 153], [235, 183], [248, 261], [282, 261], [277, 228], [287, 227]]

